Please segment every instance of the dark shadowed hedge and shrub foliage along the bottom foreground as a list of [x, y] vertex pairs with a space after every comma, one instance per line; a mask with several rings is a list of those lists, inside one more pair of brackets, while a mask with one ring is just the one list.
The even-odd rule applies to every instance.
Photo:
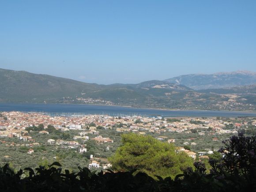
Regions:
[[[0, 169], [0, 190], [4, 192], [218, 192], [255, 191], [256, 189], [256, 136], [242, 134], [224, 142], [221, 159], [209, 160], [211, 173], [206, 173], [202, 162], [195, 162], [194, 169], [184, 169], [174, 179], [157, 177], [147, 173], [107, 171], [90, 172], [80, 168], [78, 173], [63, 171], [58, 162], [46, 169], [20, 169], [14, 173], [8, 164]], [[56, 168], [57, 166], [57, 168]]]

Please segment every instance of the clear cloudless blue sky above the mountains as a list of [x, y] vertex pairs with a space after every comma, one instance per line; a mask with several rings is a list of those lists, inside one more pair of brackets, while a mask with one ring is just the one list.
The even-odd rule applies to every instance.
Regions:
[[256, 0], [0, 0], [0, 68], [101, 84], [256, 72]]

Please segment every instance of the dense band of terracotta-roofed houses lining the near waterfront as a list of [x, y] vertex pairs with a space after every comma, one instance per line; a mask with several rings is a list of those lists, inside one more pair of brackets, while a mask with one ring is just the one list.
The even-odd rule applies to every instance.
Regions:
[[[56, 129], [67, 131], [69, 129], [85, 130], [89, 129], [89, 133], [99, 135], [97, 127], [101, 126], [105, 129], [112, 128], [115, 124], [122, 124], [120, 128], [117, 128], [117, 132], [138, 132], [139, 134], [145, 134], [145, 132], [164, 133], [164, 132], [191, 132], [192, 129], [212, 128], [211, 134], [226, 134], [237, 133], [237, 130], [228, 130], [225, 128], [225, 122], [217, 120], [216, 118], [191, 118], [183, 117], [178, 121], [169, 121], [168, 118], [162, 119], [162, 117], [140, 117], [140, 116], [125, 116], [125, 117], [112, 117], [108, 115], [84, 115], [79, 117], [64, 117], [54, 116], [51, 117], [42, 113], [21, 113], [21, 112], [3, 112], [3, 117], [0, 118], [0, 136], [11, 136], [17, 131], [25, 130], [26, 127], [32, 125], [38, 126], [43, 124], [46, 128], [49, 124], [53, 125]], [[139, 120], [139, 121], [138, 121]], [[200, 120], [202, 124], [193, 124], [192, 121]], [[95, 126], [90, 126], [93, 123]], [[246, 124], [246, 122], [244, 122]], [[254, 122], [256, 124], [256, 121]], [[236, 128], [241, 127], [242, 124], [234, 124]], [[223, 129], [224, 128], [224, 129]], [[49, 134], [45, 130], [41, 133]], [[204, 135], [204, 131], [198, 132], [199, 135]]]

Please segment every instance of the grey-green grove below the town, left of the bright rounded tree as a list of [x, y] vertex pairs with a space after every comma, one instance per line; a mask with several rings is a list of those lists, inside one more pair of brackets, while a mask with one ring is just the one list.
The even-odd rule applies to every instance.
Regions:
[[[96, 144], [93, 140], [83, 141], [77, 139], [81, 144], [85, 144], [87, 152], [78, 153], [78, 149], [67, 149], [56, 145], [50, 145], [47, 143], [48, 139], [63, 139], [73, 140], [73, 137], [79, 135], [79, 131], [60, 131], [53, 130], [50, 134], [40, 134], [41, 125], [32, 126], [26, 128], [27, 130], [33, 129], [29, 135], [35, 139], [36, 142], [41, 143], [40, 146], [34, 146], [34, 153], [27, 154], [27, 151], [31, 148], [27, 146], [31, 142], [24, 142], [17, 137], [14, 138], [1, 138], [0, 142], [0, 166], [4, 166], [5, 163], [9, 163], [11, 168], [16, 171], [24, 169], [25, 167], [36, 168], [38, 165], [51, 164], [54, 161], [61, 163], [64, 169], [70, 171], [79, 171], [78, 166], [88, 167], [90, 163], [90, 154], [96, 158], [96, 160], [102, 164], [107, 162], [107, 157], [113, 155], [117, 147], [120, 144], [120, 133], [113, 130], [100, 129], [100, 133], [103, 137], [110, 137], [114, 140], [114, 143], [102, 143]], [[45, 130], [49, 131], [51, 126], [48, 126]], [[94, 138], [95, 135], [87, 134], [90, 138]], [[10, 143], [14, 143], [11, 146]], [[8, 145], [7, 145], [8, 144]], [[109, 150], [106, 148], [109, 146]]]

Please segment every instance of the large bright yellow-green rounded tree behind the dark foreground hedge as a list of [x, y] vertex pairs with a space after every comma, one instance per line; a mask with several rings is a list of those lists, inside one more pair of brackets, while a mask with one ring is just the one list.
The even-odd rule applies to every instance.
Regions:
[[177, 153], [173, 144], [133, 133], [122, 135], [122, 145], [109, 161], [117, 171], [136, 169], [152, 177], [175, 177], [193, 165], [192, 158], [184, 152]]

